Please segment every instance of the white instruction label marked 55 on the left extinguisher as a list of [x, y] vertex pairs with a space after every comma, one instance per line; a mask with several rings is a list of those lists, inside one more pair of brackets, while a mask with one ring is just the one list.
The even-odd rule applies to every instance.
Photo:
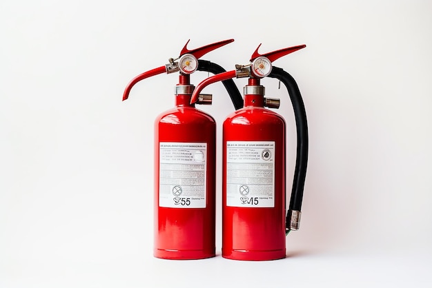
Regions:
[[205, 208], [207, 143], [159, 143], [159, 207]]

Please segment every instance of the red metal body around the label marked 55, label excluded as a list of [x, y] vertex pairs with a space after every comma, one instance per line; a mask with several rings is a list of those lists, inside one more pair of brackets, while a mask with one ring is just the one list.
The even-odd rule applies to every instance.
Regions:
[[[215, 256], [216, 123], [190, 105], [190, 94], [176, 96], [175, 108], [155, 121], [155, 245], [154, 256], [200, 259]], [[206, 207], [159, 205], [159, 143], [206, 143]]]

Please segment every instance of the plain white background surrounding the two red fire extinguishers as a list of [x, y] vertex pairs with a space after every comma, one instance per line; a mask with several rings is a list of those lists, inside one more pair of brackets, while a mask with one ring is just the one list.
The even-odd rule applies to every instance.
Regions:
[[[431, 287], [431, 11], [426, 0], [1, 1], [0, 287]], [[259, 43], [307, 45], [274, 63], [308, 114], [301, 229], [288, 258], [239, 262], [220, 256], [218, 218], [216, 258], [155, 259], [153, 121], [173, 107], [177, 76], [146, 79], [125, 102], [123, 90], [188, 39], [230, 38], [202, 59], [231, 70]], [[291, 191], [291, 103], [262, 83], [282, 99]], [[204, 92], [220, 142], [233, 105], [220, 83]]]

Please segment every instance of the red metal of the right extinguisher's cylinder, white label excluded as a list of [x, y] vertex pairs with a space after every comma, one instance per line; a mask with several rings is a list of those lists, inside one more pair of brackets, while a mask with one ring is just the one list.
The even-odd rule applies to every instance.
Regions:
[[[258, 81], [257, 79], [250, 79]], [[256, 85], [254, 83], [254, 85]], [[244, 108], [224, 121], [222, 256], [236, 260], [285, 258], [285, 121], [264, 108], [264, 96], [246, 94]], [[274, 141], [274, 207], [227, 205], [227, 142]]]

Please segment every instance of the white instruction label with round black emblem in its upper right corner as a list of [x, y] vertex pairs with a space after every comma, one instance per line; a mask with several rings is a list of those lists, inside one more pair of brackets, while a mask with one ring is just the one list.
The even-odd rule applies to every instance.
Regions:
[[226, 205], [275, 207], [275, 141], [226, 142]]

